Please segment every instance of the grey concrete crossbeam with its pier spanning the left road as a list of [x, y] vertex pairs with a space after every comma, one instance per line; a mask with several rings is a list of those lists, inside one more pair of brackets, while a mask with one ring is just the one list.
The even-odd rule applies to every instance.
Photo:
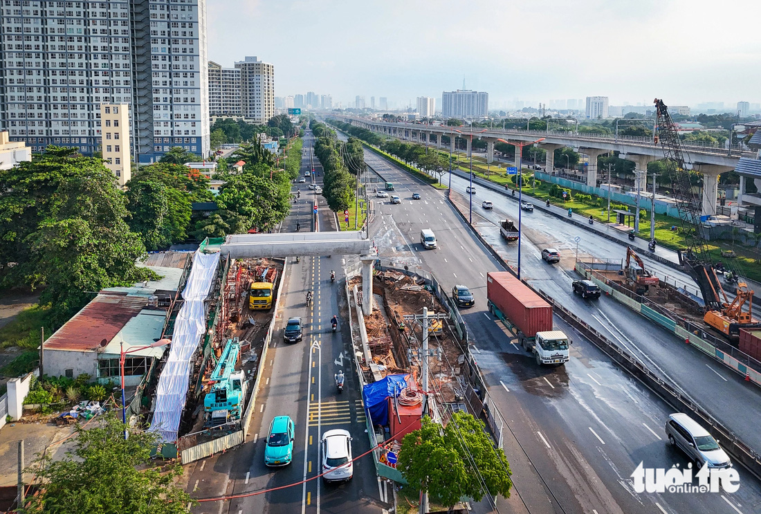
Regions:
[[[365, 231], [228, 235], [220, 253], [234, 259], [358, 255], [362, 262], [362, 291], [372, 291], [373, 262], [378, 258]], [[363, 295], [362, 311], [367, 316], [372, 314], [372, 294]]]

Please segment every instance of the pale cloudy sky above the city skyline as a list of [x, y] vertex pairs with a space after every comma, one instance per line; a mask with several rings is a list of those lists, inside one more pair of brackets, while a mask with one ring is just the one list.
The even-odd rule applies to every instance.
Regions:
[[463, 87], [610, 105], [761, 102], [761, 2], [209, 0], [209, 59], [275, 65], [275, 96], [399, 107]]

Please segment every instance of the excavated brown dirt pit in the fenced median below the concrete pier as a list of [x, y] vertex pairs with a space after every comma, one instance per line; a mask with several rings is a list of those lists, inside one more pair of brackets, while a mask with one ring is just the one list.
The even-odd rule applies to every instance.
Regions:
[[[406, 315], [446, 313], [436, 296], [425, 286], [422, 279], [407, 276], [403, 272], [376, 271], [373, 278], [373, 312], [365, 316], [368, 346], [372, 360], [381, 375], [409, 373], [421, 376], [419, 350], [422, 348], [422, 323], [405, 320]], [[349, 287], [361, 284], [354, 277]], [[438, 357], [428, 359], [431, 390], [436, 391], [438, 401], [451, 403], [461, 396], [457, 382], [463, 363], [463, 350], [457, 333], [448, 318], [428, 321], [428, 348], [438, 352]], [[365, 380], [373, 382], [373, 373], [365, 362], [362, 366]]]

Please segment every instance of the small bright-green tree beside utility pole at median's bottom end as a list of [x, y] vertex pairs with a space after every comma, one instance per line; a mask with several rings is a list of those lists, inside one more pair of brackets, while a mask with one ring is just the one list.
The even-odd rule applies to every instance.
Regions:
[[410, 487], [449, 508], [463, 496], [476, 501], [486, 493], [510, 497], [505, 453], [492, 445], [483, 423], [468, 413], [454, 413], [443, 429], [424, 417], [420, 429], [404, 436], [396, 467]]

